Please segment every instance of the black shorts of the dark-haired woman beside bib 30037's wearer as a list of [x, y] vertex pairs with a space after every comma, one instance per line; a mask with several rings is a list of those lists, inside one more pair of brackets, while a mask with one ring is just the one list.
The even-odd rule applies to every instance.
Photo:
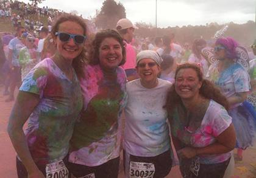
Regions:
[[117, 178], [119, 171], [119, 157], [109, 160], [99, 166], [85, 166], [68, 162], [71, 173], [76, 177]]

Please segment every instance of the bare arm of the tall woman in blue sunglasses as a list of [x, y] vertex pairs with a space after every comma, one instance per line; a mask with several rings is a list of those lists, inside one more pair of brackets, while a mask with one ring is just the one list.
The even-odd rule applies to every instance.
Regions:
[[8, 133], [12, 140], [13, 147], [27, 169], [29, 177], [44, 177], [35, 165], [27, 146], [23, 125], [39, 103], [40, 98], [29, 92], [18, 93], [8, 123]]

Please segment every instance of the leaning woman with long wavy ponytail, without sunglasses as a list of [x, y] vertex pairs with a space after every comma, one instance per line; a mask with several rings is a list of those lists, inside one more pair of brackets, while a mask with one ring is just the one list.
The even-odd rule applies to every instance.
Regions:
[[221, 178], [235, 147], [228, 102], [197, 64], [176, 69], [166, 109], [183, 177]]

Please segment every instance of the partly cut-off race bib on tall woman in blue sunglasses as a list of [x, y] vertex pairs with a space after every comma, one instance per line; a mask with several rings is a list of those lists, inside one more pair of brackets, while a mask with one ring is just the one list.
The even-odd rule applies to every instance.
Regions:
[[45, 171], [46, 178], [68, 178], [68, 169], [62, 160], [46, 165]]

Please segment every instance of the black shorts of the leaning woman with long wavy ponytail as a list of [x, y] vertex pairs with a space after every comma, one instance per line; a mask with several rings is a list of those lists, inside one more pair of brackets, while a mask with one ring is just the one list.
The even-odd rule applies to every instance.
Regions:
[[227, 166], [229, 165], [230, 158], [221, 163], [215, 164], [201, 164], [196, 176], [190, 171], [191, 159], [190, 160], [181, 160], [180, 161], [180, 173], [183, 177], [187, 178], [222, 178], [225, 174]]

